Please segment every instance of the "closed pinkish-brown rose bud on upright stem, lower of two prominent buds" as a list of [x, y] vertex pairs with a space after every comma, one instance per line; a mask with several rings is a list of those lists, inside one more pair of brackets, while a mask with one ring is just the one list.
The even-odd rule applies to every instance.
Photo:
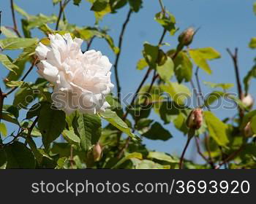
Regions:
[[194, 109], [190, 112], [187, 118], [187, 127], [190, 129], [198, 130], [203, 124], [203, 111], [202, 109]]

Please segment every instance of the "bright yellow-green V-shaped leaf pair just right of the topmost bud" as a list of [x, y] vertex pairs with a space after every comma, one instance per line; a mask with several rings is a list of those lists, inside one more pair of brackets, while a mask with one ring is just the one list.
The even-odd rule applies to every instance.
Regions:
[[194, 63], [206, 71], [207, 74], [211, 74], [211, 68], [208, 66], [207, 60], [213, 60], [220, 58], [219, 52], [212, 47], [200, 48], [189, 50], [190, 57], [194, 60]]

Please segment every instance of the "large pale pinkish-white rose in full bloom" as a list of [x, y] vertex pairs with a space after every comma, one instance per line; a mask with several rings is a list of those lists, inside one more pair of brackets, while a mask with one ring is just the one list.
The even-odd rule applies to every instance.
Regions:
[[70, 34], [49, 35], [50, 47], [39, 43], [36, 53], [40, 60], [38, 73], [53, 83], [53, 102], [58, 109], [71, 114], [105, 111], [110, 105], [105, 95], [110, 93], [112, 64], [101, 52], [83, 53], [82, 39], [72, 39]]

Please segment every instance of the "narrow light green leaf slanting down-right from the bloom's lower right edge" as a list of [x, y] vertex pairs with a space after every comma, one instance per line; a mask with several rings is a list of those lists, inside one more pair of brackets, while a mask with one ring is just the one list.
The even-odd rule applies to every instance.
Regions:
[[140, 138], [132, 133], [128, 125], [120, 117], [118, 117], [116, 112], [107, 109], [104, 113], [101, 113], [100, 116], [110, 122], [110, 124], [118, 128], [118, 130], [126, 133], [127, 136], [130, 136], [132, 139], [137, 139], [140, 141]]

